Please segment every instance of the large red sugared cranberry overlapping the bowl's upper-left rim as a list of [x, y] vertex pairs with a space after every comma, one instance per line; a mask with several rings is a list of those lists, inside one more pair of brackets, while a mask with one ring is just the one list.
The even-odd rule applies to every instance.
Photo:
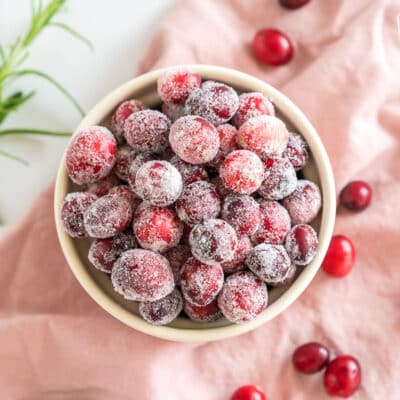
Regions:
[[78, 185], [96, 182], [110, 173], [115, 164], [116, 153], [117, 142], [107, 128], [84, 128], [72, 138], [68, 146], [68, 176]]

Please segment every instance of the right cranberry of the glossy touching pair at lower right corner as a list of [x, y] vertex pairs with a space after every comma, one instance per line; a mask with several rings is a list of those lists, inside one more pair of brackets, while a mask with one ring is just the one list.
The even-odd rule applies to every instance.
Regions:
[[330, 362], [324, 376], [324, 386], [330, 396], [350, 397], [360, 385], [361, 367], [354, 357], [342, 355]]

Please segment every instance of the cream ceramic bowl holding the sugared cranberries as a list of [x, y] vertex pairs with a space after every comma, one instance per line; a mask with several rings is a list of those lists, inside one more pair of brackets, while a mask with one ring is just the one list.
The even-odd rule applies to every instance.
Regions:
[[[296, 280], [289, 287], [270, 291], [268, 307], [255, 320], [243, 325], [234, 325], [225, 319], [213, 323], [197, 323], [185, 318], [178, 318], [168, 326], [151, 325], [138, 315], [137, 305], [134, 302], [124, 300], [113, 290], [106, 274], [90, 265], [87, 259], [89, 240], [72, 239], [64, 232], [60, 218], [62, 201], [68, 192], [79, 190], [68, 179], [65, 154], [57, 174], [54, 210], [57, 234], [65, 258], [79, 283], [101, 307], [126, 325], [148, 335], [174, 341], [202, 342], [240, 335], [257, 328], [283, 312], [307, 288], [321, 265], [332, 236], [335, 220], [335, 188], [332, 168], [318, 133], [300, 109], [286, 96], [267, 83], [243, 72], [211, 65], [193, 65], [190, 68], [198, 72], [203, 80], [225, 82], [238, 92], [264, 93], [272, 99], [278, 116], [286, 122], [289, 130], [300, 133], [307, 141], [311, 159], [303, 173], [307, 179], [315, 181], [320, 186], [322, 210], [320, 216], [312, 223], [319, 238], [316, 256]], [[111, 92], [93, 107], [75, 133], [90, 125], [109, 126], [110, 116], [123, 100], [135, 98], [150, 107], [159, 105], [156, 82], [163, 72], [164, 70], [157, 70], [141, 75]]]

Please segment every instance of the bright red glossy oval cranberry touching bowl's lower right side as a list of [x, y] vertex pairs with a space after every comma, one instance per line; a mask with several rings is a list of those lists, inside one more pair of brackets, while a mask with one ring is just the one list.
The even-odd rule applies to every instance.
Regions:
[[343, 278], [353, 269], [355, 258], [356, 250], [351, 240], [344, 235], [336, 235], [332, 237], [322, 268], [335, 278]]

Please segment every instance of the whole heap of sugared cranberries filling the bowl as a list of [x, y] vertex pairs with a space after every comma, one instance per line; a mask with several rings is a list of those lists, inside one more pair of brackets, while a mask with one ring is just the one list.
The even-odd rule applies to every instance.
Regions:
[[317, 251], [308, 224], [321, 194], [297, 175], [307, 145], [262, 93], [184, 67], [157, 90], [158, 109], [128, 99], [110, 128], [71, 141], [66, 167], [81, 189], [64, 199], [65, 231], [92, 238], [90, 263], [147, 322], [245, 323]]

